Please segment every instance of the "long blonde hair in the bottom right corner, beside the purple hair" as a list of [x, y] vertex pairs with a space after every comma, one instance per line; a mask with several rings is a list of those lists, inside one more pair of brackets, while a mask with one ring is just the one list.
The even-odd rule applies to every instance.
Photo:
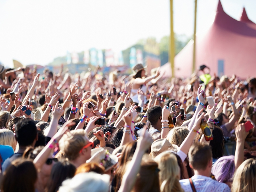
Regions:
[[232, 183], [232, 192], [256, 191], [256, 160], [245, 160], [236, 170]]

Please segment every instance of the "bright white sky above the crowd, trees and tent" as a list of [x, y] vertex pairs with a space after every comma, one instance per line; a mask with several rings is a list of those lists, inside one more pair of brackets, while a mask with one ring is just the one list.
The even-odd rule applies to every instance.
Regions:
[[[245, 6], [256, 23], [255, 0], [221, 0], [238, 19]], [[218, 0], [197, 0], [197, 32], [212, 24]], [[169, 0], [0, 0], [0, 61], [46, 65], [66, 52], [124, 50], [141, 38], [170, 33]], [[174, 31], [193, 35], [194, 0], [174, 0]]]

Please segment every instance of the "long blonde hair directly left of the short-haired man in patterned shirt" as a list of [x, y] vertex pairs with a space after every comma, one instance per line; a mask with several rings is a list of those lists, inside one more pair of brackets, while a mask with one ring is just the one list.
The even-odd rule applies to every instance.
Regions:
[[180, 186], [180, 168], [174, 154], [165, 151], [154, 159], [158, 163], [161, 192], [183, 192]]

